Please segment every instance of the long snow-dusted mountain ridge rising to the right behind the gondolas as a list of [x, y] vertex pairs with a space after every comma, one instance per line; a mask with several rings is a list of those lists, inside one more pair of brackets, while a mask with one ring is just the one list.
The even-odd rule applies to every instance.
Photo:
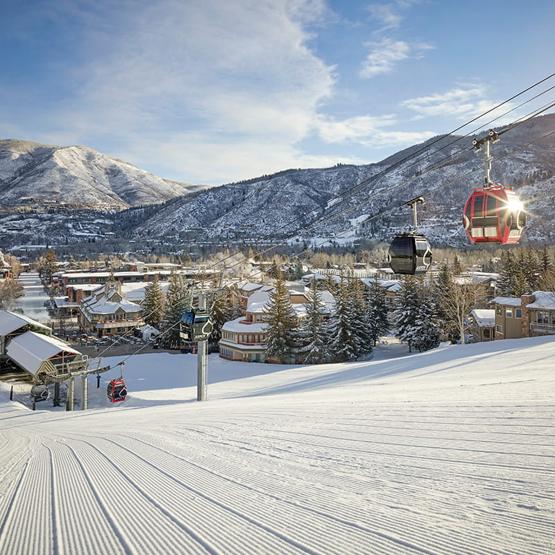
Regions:
[[[527, 203], [526, 237], [531, 240], [555, 239], [555, 137], [525, 145], [553, 130], [555, 114], [538, 117], [491, 146], [499, 159], [493, 163], [492, 178], [514, 187]], [[350, 234], [387, 240], [412, 225], [410, 209], [396, 207], [425, 195], [420, 230], [436, 244], [466, 244], [463, 207], [484, 178], [484, 153], [472, 149], [474, 138], [434, 137], [377, 164], [289, 170], [223, 185], [160, 207], [137, 233], [169, 236], [202, 228], [207, 237], [276, 238], [304, 230], [307, 237], [334, 237], [370, 219]], [[425, 173], [438, 164], [443, 165]]]

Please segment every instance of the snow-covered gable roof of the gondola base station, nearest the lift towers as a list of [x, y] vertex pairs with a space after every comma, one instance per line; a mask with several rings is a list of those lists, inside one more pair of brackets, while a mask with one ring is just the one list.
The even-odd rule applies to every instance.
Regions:
[[56, 337], [49, 337], [35, 332], [25, 332], [18, 335], [8, 343], [6, 354], [27, 370], [35, 373], [42, 362], [60, 352], [69, 352], [80, 355], [80, 352], [71, 348], [67, 343]]

